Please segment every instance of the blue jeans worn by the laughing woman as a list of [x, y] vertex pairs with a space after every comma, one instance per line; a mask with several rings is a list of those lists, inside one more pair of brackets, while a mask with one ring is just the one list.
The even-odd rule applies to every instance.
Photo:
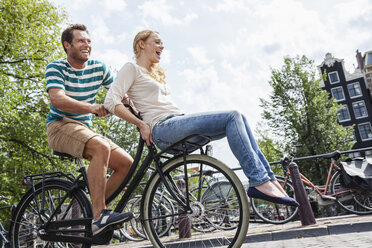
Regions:
[[251, 187], [275, 180], [245, 116], [238, 111], [173, 116], [159, 121], [152, 130], [153, 141], [162, 150], [192, 134], [207, 135], [212, 140], [227, 137], [230, 149], [248, 177]]

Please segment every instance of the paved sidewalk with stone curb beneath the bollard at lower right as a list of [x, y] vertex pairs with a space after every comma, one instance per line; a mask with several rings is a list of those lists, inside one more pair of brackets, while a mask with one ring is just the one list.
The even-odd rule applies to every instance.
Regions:
[[[302, 226], [301, 221], [289, 222], [281, 225], [250, 223], [244, 243], [269, 242], [304, 237], [318, 237], [333, 234], [372, 231], [372, 215], [344, 215], [316, 219], [316, 224]], [[213, 232], [218, 236], [218, 232]], [[206, 238], [205, 241], [207, 241]], [[213, 238], [211, 238], [211, 241]], [[94, 246], [97, 248], [107, 246]], [[111, 248], [152, 247], [148, 241], [111, 244]]]

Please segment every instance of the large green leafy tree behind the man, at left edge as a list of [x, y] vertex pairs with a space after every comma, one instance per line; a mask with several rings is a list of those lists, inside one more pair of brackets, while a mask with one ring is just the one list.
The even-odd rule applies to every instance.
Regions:
[[16, 203], [26, 174], [58, 168], [45, 134], [45, 66], [63, 53], [66, 15], [45, 0], [0, 0], [0, 192]]

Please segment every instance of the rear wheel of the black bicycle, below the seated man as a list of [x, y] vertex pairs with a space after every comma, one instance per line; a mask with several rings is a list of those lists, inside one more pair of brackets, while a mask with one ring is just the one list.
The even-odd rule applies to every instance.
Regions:
[[[68, 220], [75, 218], [91, 218], [93, 216], [92, 207], [87, 196], [81, 189], [70, 192], [72, 183], [65, 179], [48, 179], [44, 182], [45, 192], [45, 219], [39, 218], [37, 205], [41, 206], [43, 198], [42, 183], [35, 185], [35, 193], [32, 188], [28, 190], [17, 205], [14, 212], [11, 226], [11, 244], [13, 248], [22, 247], [81, 247], [89, 248], [90, 244], [74, 244], [53, 241], [43, 241], [38, 237], [38, 228], [42, 222], [51, 216], [54, 208], [61, 201], [62, 197], [70, 194], [66, 199], [61, 211], [57, 214], [58, 220]], [[77, 203], [77, 204], [76, 204]], [[74, 227], [75, 228], [75, 227]], [[79, 229], [90, 229], [90, 224], [81, 225]], [[72, 233], [70, 235], [73, 235]], [[76, 235], [76, 234], [74, 234]], [[85, 233], [84, 237], [90, 237], [91, 234]]]

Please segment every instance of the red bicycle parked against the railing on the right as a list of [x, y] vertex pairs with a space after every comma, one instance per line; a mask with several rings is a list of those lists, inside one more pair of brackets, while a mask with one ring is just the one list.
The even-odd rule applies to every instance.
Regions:
[[[370, 148], [368, 148], [370, 149]], [[366, 149], [353, 150], [353, 152], [365, 151]], [[302, 182], [309, 196], [321, 205], [337, 203], [342, 209], [352, 214], [365, 215], [372, 213], [372, 192], [361, 189], [349, 189], [340, 183], [341, 168], [337, 165], [337, 160], [341, 154], [349, 152], [334, 151], [318, 156], [294, 158], [295, 147], [291, 149], [288, 157], [284, 157], [280, 163], [284, 172], [284, 177], [277, 176], [278, 182], [286, 190], [289, 196], [295, 197], [294, 188], [289, 179], [290, 171], [288, 166], [293, 161], [306, 159], [325, 158], [331, 159], [328, 176], [324, 186], [314, 185], [308, 178], [300, 173]], [[314, 196], [315, 195], [315, 196]], [[265, 206], [260, 208], [260, 204]], [[289, 207], [281, 204], [273, 204], [260, 199], [251, 198], [252, 209], [262, 220], [272, 224], [284, 224], [291, 221], [298, 212], [298, 207]]]

